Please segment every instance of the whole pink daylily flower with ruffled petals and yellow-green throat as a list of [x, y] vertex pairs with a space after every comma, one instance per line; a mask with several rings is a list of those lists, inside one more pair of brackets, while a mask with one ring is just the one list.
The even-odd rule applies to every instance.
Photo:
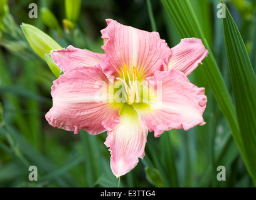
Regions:
[[[107, 131], [105, 145], [111, 154], [110, 166], [120, 177], [144, 157], [148, 131], [159, 137], [170, 129], [188, 130], [205, 124], [205, 89], [190, 83], [186, 76], [208, 51], [200, 39], [182, 39], [170, 49], [157, 32], [124, 26], [112, 19], [106, 21], [107, 27], [101, 31], [105, 54], [73, 46], [51, 51], [64, 74], [53, 81], [53, 107], [46, 120], [51, 126], [75, 134], [80, 129], [89, 134]], [[117, 89], [109, 89], [117, 81], [122, 84], [125, 101], [117, 102]], [[141, 101], [146, 91], [137, 85], [143, 81], [151, 88], [147, 102]], [[156, 95], [157, 81], [161, 83], [160, 96]], [[100, 96], [95, 95], [99, 93], [97, 83], [104, 83], [101, 89], [105, 92]]]

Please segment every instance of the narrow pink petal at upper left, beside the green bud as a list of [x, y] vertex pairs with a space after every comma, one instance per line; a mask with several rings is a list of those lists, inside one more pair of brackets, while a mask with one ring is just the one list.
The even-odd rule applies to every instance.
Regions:
[[56, 65], [64, 72], [83, 66], [95, 66], [100, 64], [104, 56], [105, 54], [78, 49], [71, 45], [67, 49], [51, 51], [51, 58], [53, 58]]

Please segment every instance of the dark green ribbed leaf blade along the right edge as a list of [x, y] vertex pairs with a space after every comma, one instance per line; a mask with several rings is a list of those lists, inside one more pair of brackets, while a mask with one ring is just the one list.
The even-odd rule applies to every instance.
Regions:
[[239, 148], [256, 186], [256, 76], [242, 36], [227, 7], [223, 32], [242, 142]]

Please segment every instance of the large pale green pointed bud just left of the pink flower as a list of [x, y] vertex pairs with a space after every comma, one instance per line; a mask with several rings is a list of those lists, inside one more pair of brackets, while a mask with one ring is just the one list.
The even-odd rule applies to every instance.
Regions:
[[45, 54], [62, 47], [50, 36], [35, 26], [22, 23], [21, 29], [32, 49], [45, 60]]

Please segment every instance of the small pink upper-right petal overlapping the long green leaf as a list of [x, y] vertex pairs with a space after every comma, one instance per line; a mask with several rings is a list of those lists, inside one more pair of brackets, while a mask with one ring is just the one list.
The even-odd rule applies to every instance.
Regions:
[[191, 74], [198, 64], [203, 64], [201, 61], [208, 55], [201, 39], [195, 37], [181, 39], [181, 42], [171, 50], [173, 54], [169, 59], [168, 69], [176, 69], [186, 76]]

